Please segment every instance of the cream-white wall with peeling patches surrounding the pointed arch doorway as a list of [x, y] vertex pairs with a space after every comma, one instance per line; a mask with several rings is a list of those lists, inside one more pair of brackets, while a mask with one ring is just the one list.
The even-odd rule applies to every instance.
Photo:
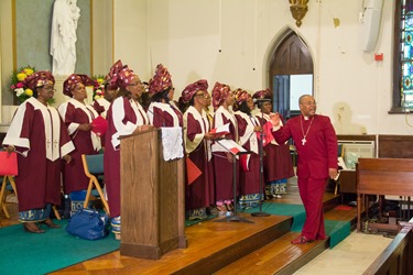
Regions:
[[[123, 9], [133, 3], [122, 1]], [[388, 114], [393, 1], [384, 0], [380, 36], [371, 53], [361, 50], [361, 35], [366, 35], [359, 23], [361, 6], [360, 0], [309, 1], [298, 29], [286, 0], [151, 0], [146, 70], [163, 63], [172, 74], [176, 98], [199, 78], [206, 78], [210, 87], [218, 80], [253, 92], [268, 87], [270, 51], [279, 35], [291, 28], [307, 43], [314, 58], [318, 113], [332, 118], [337, 133], [410, 134], [413, 130], [404, 114]], [[118, 10], [116, 15], [123, 16], [123, 12]], [[117, 21], [116, 25], [123, 28], [126, 22]], [[122, 42], [117, 40], [117, 44]], [[116, 50], [127, 54], [124, 51]], [[383, 53], [384, 59], [374, 62], [374, 53]], [[139, 62], [131, 54], [128, 57]], [[148, 79], [148, 72], [140, 72], [143, 79]], [[413, 123], [411, 116], [407, 119]]]

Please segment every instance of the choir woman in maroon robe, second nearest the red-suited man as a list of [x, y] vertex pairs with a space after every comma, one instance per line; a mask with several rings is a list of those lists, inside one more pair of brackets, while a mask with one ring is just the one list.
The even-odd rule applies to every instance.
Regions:
[[235, 117], [238, 122], [239, 144], [251, 154], [241, 155], [240, 172], [240, 196], [239, 206], [241, 209], [254, 208], [260, 202], [260, 155], [257, 133], [261, 131], [260, 121], [251, 114], [254, 105], [246, 90], [233, 91], [236, 97]]

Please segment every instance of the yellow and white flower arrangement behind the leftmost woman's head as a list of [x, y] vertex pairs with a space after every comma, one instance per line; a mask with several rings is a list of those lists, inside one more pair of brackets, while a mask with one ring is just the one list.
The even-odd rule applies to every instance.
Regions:
[[35, 72], [35, 68], [29, 65], [12, 72], [10, 89], [17, 96], [19, 103], [23, 103], [33, 96], [33, 90], [25, 87], [23, 80]]

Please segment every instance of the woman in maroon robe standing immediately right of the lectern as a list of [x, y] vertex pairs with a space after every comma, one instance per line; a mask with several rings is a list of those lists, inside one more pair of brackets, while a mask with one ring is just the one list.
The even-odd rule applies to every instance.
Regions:
[[[185, 185], [185, 208], [189, 220], [207, 217], [206, 208], [215, 202], [214, 177], [210, 152], [209, 121], [204, 110], [208, 82], [205, 79], [188, 85], [182, 92], [181, 102], [188, 105], [184, 113], [184, 139], [186, 157], [202, 170], [193, 182]], [[187, 167], [187, 173], [191, 173]]]

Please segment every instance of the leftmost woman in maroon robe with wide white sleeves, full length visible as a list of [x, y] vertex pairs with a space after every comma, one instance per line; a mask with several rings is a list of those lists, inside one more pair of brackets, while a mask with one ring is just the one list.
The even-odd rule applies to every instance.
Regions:
[[55, 108], [48, 106], [54, 95], [54, 77], [50, 72], [36, 72], [24, 85], [33, 97], [18, 109], [3, 145], [18, 153], [19, 220], [31, 233], [43, 233], [36, 222], [59, 228], [51, 218], [52, 205], [61, 204], [62, 158], [70, 162], [75, 147]]

